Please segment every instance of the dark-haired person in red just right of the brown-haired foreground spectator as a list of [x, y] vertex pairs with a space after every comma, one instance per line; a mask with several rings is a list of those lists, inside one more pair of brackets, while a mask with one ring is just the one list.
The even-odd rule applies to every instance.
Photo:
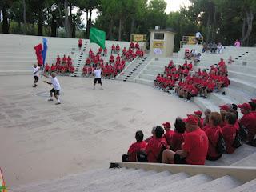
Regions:
[[226, 126], [222, 127], [223, 138], [226, 143], [226, 153], [233, 154], [235, 148], [232, 146], [236, 136], [238, 126], [236, 126], [236, 114], [227, 112], [225, 116]]

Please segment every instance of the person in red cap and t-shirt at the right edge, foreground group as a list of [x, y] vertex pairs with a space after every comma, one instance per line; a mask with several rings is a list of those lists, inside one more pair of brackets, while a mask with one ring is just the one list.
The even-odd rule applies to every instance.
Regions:
[[248, 103], [243, 103], [242, 105], [238, 105], [243, 114], [240, 119], [240, 125], [245, 126], [248, 130], [248, 144], [254, 142], [254, 136], [256, 134], [256, 115], [251, 111], [251, 107]]

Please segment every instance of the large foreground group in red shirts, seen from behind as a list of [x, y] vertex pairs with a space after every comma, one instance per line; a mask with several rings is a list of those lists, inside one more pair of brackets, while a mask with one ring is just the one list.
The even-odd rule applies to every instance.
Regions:
[[[238, 108], [243, 114], [240, 119]], [[216, 161], [223, 153], [233, 154], [242, 142], [256, 146], [255, 109], [256, 99], [251, 99], [238, 106], [220, 106], [220, 113], [206, 110], [205, 118], [202, 118], [200, 110], [194, 111], [187, 118], [176, 118], [174, 130], [171, 130], [170, 122], [163, 123], [163, 128], [153, 127], [153, 136], [146, 140], [143, 140], [142, 131], [138, 130], [136, 142], [122, 156], [122, 161], [204, 165], [206, 159]], [[218, 150], [220, 141], [225, 146], [225, 152]], [[240, 145], [238, 141], [241, 141]]]

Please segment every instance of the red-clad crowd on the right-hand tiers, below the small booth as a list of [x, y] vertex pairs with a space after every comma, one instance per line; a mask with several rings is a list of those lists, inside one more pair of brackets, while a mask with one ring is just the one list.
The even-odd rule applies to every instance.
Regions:
[[197, 95], [207, 98], [209, 93], [219, 91], [229, 84], [226, 64], [222, 58], [217, 66], [210, 66], [208, 73], [206, 69], [201, 71], [200, 68], [194, 72], [192, 62], [187, 61], [176, 69], [171, 60], [169, 65], [165, 66], [164, 74], [158, 74], [154, 80], [154, 86], [162, 90], [171, 90], [175, 86], [178, 96], [189, 100]]

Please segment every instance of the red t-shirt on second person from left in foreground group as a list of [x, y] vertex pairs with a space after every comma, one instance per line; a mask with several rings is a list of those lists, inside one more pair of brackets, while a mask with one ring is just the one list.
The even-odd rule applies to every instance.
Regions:
[[152, 138], [146, 146], [148, 162], [158, 162], [158, 155], [162, 150], [162, 145], [166, 145], [165, 138]]

